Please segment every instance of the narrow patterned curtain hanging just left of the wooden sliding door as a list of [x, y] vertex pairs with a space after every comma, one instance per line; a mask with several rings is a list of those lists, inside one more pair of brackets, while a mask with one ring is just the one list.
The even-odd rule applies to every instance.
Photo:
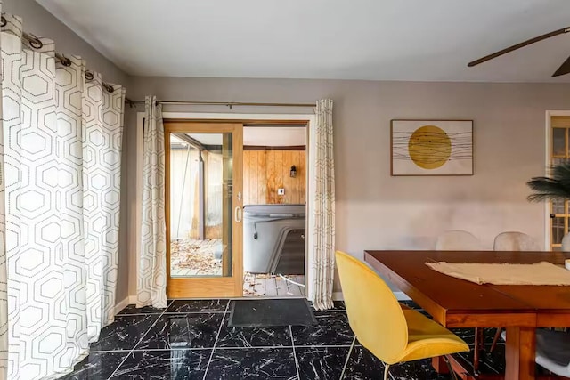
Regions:
[[147, 96], [142, 145], [142, 230], [136, 307], [167, 307], [165, 147], [162, 106]]

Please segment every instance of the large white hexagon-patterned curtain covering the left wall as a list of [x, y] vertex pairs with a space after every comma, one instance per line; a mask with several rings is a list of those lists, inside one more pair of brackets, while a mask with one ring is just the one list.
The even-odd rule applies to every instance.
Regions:
[[52, 41], [29, 46], [22, 20], [4, 18], [1, 367], [9, 379], [54, 378], [113, 320], [125, 90], [86, 80], [85, 61], [63, 66]]

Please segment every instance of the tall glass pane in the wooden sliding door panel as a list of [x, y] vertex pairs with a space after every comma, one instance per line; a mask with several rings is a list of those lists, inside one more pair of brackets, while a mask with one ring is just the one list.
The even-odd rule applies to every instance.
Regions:
[[232, 133], [173, 133], [170, 275], [232, 276]]

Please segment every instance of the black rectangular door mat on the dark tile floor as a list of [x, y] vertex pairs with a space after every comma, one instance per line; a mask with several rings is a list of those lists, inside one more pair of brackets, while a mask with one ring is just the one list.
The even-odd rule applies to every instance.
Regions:
[[230, 327], [316, 325], [313, 311], [304, 298], [233, 300]]

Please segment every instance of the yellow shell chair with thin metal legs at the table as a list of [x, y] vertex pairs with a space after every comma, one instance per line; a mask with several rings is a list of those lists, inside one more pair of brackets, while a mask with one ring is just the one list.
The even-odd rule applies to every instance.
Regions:
[[340, 251], [336, 257], [348, 323], [354, 332], [340, 379], [357, 338], [382, 360], [385, 380], [392, 364], [436, 356], [444, 357], [455, 378], [445, 355], [467, 352], [468, 345], [445, 327], [398, 303], [390, 287], [365, 263]]

